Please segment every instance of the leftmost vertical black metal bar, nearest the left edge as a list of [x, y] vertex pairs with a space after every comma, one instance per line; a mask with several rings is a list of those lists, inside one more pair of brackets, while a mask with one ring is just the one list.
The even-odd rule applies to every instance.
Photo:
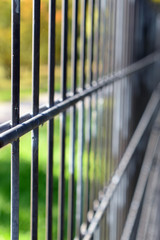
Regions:
[[[12, 0], [12, 126], [19, 123], [20, 1]], [[11, 152], [11, 240], [19, 239], [19, 139]]]

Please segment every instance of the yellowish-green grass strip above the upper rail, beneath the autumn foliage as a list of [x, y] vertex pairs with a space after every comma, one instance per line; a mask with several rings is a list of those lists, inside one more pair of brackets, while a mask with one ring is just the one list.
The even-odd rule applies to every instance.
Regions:
[[[80, 65], [78, 65], [77, 82], [80, 79]], [[9, 102], [11, 100], [11, 77], [6, 76], [6, 72], [0, 66], [0, 102]], [[67, 91], [71, 89], [71, 63], [67, 67]], [[55, 66], [55, 91], [61, 90], [61, 67]], [[47, 65], [40, 66], [40, 94], [48, 92], [48, 67]], [[32, 72], [29, 67], [21, 67], [20, 71], [20, 100], [28, 100], [32, 95]]]

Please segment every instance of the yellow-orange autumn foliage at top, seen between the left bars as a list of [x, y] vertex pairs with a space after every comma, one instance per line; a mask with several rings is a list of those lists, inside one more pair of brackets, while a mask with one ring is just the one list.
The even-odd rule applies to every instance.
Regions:
[[[40, 62], [48, 62], [48, 0], [41, 1], [40, 26]], [[32, 0], [21, 1], [21, 66], [31, 69], [32, 65]], [[56, 64], [60, 65], [61, 58], [61, 1], [56, 3]], [[68, 31], [71, 33], [72, 1], [69, 1]], [[68, 34], [68, 58], [71, 57], [71, 34]], [[11, 0], [0, 1], [0, 66], [10, 79], [11, 66]]]

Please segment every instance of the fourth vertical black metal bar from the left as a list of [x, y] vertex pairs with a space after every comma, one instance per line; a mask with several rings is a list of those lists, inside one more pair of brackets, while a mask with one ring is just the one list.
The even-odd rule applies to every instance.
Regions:
[[[67, 85], [67, 34], [68, 34], [68, 0], [62, 2], [62, 38], [61, 38], [61, 94], [62, 100], [66, 99]], [[61, 167], [59, 179], [59, 225], [58, 240], [64, 236], [64, 202], [65, 202], [65, 137], [66, 137], [66, 112], [61, 115]]]

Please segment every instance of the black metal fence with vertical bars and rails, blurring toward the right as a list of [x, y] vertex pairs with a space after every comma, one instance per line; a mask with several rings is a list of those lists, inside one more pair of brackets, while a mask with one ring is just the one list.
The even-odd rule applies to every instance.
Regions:
[[[159, 101], [151, 101], [132, 138], [150, 96], [148, 94], [145, 102], [140, 101], [141, 78], [152, 74], [159, 66], [156, 65], [159, 64], [158, 52], [134, 62], [135, 52], [138, 52], [136, 34], [141, 29], [140, 1], [72, 1], [72, 84], [71, 91], [67, 90], [69, 2], [62, 1], [61, 97], [55, 99], [56, 1], [49, 1], [48, 102], [41, 107], [41, 10], [40, 0], [33, 0], [32, 113], [20, 117], [20, 0], [12, 1], [12, 122], [0, 127], [0, 147], [12, 144], [12, 240], [19, 238], [19, 142], [30, 131], [30, 233], [31, 239], [38, 239], [39, 127], [46, 122], [46, 239], [53, 238], [54, 228], [58, 229], [54, 239], [59, 240], [120, 239], [142, 164], [148, 126]], [[78, 18], [81, 19], [80, 32]], [[152, 111], [148, 110], [151, 108]], [[55, 159], [54, 152], [59, 148], [59, 143], [54, 142], [57, 115], [60, 116], [61, 140], [60, 155]], [[67, 129], [70, 129], [69, 134]], [[54, 211], [57, 211], [54, 206], [57, 197], [53, 180], [55, 161], [60, 169], [58, 223], [53, 221]]]

